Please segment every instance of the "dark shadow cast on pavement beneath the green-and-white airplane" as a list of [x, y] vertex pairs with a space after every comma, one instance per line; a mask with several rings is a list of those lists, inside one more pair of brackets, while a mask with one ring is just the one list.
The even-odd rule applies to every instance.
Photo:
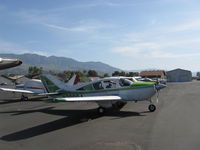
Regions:
[[18, 132], [14, 132], [8, 135], [2, 136], [0, 139], [4, 141], [18, 141], [28, 138], [32, 138], [38, 135], [56, 131], [62, 128], [70, 127], [83, 123], [89, 120], [97, 119], [102, 116], [114, 116], [114, 117], [134, 117], [134, 116], [144, 116], [138, 112], [130, 111], [108, 111], [104, 115], [101, 115], [97, 112], [96, 109], [90, 110], [59, 110], [53, 109], [54, 107], [48, 107], [38, 110], [28, 110], [28, 111], [9, 111], [9, 112], [0, 112], [0, 113], [13, 113], [12, 115], [21, 115], [34, 112], [43, 112], [52, 115], [61, 115], [65, 116], [64, 118], [47, 122], [41, 125], [37, 125], [31, 128], [27, 128]]

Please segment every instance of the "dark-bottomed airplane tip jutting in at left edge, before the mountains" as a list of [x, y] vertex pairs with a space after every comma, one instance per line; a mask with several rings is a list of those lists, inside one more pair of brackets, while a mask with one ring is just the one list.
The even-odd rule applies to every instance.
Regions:
[[19, 66], [21, 64], [22, 61], [20, 59], [0, 58], [0, 70]]

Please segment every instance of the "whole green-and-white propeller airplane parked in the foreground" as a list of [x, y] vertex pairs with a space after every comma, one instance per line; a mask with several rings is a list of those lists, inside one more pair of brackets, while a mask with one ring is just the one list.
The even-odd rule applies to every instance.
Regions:
[[[150, 101], [149, 111], [156, 106], [151, 97], [166, 85], [156, 82], [139, 82], [128, 77], [109, 77], [77, 85], [67, 85], [54, 76], [41, 76], [42, 83], [49, 95], [61, 94], [65, 97], [54, 98], [59, 102], [96, 102], [99, 113], [108, 108], [122, 108], [127, 102]], [[132, 80], [132, 81], [131, 81]]]

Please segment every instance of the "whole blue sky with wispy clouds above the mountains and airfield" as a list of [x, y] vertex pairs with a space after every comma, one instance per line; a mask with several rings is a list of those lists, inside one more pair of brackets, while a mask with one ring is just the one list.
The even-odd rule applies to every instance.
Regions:
[[0, 53], [200, 71], [198, 0], [0, 0]]

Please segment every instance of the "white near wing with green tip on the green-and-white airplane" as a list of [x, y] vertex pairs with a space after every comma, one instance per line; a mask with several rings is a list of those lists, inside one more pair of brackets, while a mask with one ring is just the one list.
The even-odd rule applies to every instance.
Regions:
[[119, 96], [88, 96], [88, 97], [64, 97], [54, 98], [55, 101], [63, 102], [99, 102], [99, 101], [120, 101]]

